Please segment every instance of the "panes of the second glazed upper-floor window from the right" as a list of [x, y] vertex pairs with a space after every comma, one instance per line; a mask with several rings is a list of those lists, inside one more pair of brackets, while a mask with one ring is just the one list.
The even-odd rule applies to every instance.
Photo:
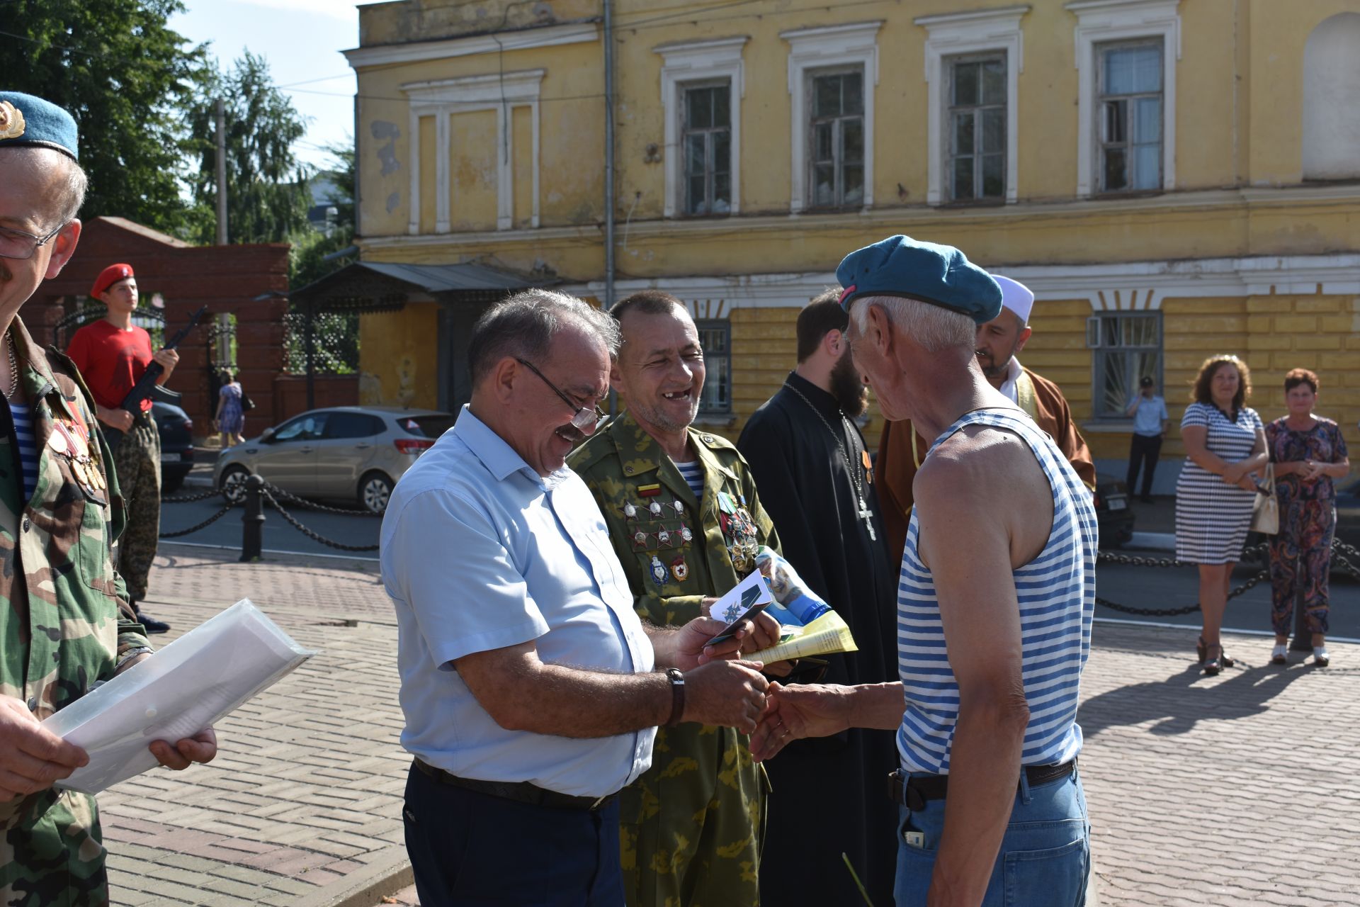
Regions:
[[948, 63], [949, 200], [1006, 196], [1006, 58], [959, 57]]

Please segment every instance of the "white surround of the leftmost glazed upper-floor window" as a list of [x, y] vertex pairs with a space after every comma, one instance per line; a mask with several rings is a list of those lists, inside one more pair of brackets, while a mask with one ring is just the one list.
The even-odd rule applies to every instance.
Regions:
[[680, 205], [680, 179], [684, 150], [680, 148], [680, 118], [684, 116], [683, 90], [687, 83], [713, 83], [726, 79], [728, 105], [732, 116], [732, 201], [728, 215], [741, 211], [741, 98], [747, 92], [741, 50], [749, 38], [688, 41], [653, 48], [661, 54], [661, 106], [665, 114], [665, 203], [666, 218], [684, 215]]

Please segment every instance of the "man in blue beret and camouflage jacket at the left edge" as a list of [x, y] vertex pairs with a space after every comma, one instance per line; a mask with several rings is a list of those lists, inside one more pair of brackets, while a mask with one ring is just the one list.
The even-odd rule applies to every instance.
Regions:
[[[19, 318], [80, 238], [76, 147], [65, 110], [0, 91], [0, 904], [23, 907], [109, 903], [94, 798], [53, 786], [88, 757], [39, 722], [151, 654], [109, 560], [122, 498], [94, 400]], [[151, 752], [186, 768], [216, 738]]]

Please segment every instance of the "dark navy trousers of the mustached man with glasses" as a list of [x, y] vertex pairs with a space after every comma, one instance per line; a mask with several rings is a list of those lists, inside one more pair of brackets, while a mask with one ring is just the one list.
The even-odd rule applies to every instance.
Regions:
[[412, 766], [403, 819], [423, 907], [623, 907], [617, 800], [548, 809]]

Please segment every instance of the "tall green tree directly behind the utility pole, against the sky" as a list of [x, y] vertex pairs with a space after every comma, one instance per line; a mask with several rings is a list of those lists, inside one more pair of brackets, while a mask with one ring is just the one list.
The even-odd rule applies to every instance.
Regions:
[[249, 50], [227, 72], [209, 67], [189, 113], [197, 207], [193, 239], [216, 241], [216, 105], [226, 107], [227, 239], [286, 242], [307, 226], [307, 167], [292, 152], [306, 118], [273, 86], [269, 64]]

